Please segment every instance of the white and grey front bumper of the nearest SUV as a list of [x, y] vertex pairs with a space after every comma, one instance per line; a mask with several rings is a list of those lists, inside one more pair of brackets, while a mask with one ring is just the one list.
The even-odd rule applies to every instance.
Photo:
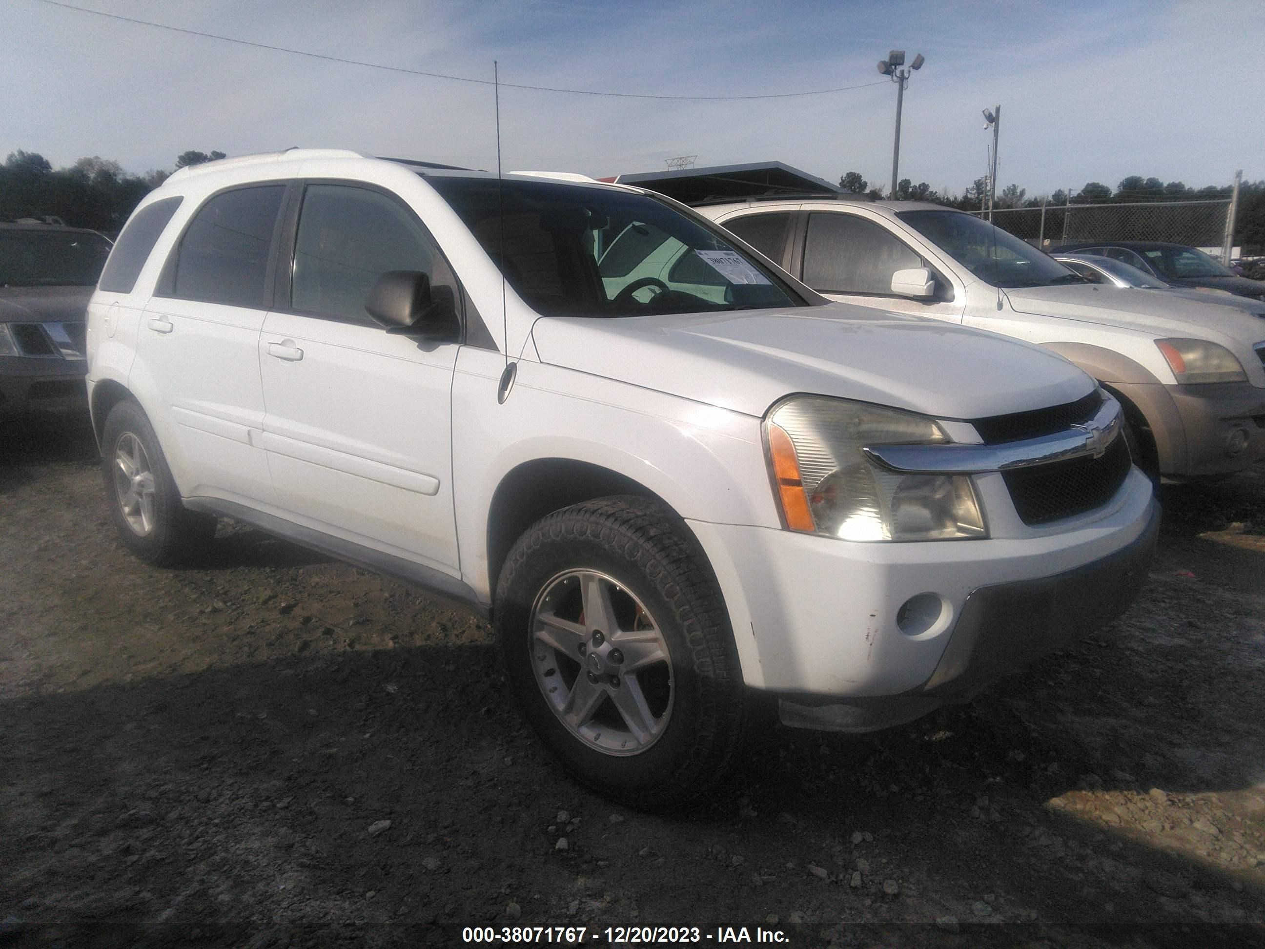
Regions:
[[[748, 686], [805, 706], [903, 696], [934, 707], [1123, 610], [1157, 518], [1135, 468], [1103, 510], [1021, 537], [859, 544], [689, 525], [720, 581]], [[1066, 601], [1088, 592], [1111, 596]]]

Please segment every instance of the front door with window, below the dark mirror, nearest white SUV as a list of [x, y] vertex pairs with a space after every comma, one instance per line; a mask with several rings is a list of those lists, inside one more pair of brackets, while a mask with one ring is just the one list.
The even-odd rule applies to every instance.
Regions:
[[421, 220], [385, 189], [306, 182], [296, 210], [285, 239], [292, 266], [258, 354], [277, 502], [307, 526], [458, 576], [459, 344], [387, 334], [364, 310], [386, 271], [423, 271], [459, 300], [455, 278]]

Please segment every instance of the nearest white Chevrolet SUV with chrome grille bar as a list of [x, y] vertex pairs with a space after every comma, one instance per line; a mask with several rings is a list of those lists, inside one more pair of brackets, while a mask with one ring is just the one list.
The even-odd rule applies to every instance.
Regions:
[[545, 744], [641, 806], [717, 781], [756, 692], [883, 728], [1127, 607], [1157, 510], [1093, 380], [576, 178], [172, 175], [89, 315], [123, 543], [228, 516], [469, 604]]

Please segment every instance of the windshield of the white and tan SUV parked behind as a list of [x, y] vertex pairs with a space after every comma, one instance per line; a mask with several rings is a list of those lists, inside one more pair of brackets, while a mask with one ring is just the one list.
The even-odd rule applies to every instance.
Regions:
[[973, 215], [899, 211], [896, 216], [994, 287], [1044, 287], [1085, 280], [1049, 254]]

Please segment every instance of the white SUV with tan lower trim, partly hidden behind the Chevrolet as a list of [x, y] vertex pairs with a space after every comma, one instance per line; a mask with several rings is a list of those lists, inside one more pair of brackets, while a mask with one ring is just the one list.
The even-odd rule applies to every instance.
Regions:
[[988, 221], [920, 201], [829, 196], [698, 209], [832, 300], [1040, 343], [1125, 409], [1165, 481], [1265, 458], [1265, 323], [1228, 306], [1095, 285]]

